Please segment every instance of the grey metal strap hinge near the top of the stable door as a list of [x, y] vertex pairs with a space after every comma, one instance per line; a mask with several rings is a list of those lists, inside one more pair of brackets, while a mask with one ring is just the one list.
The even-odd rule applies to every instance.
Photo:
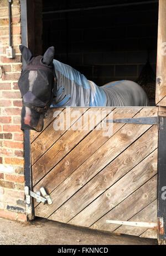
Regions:
[[158, 125], [159, 129], [164, 129], [164, 119], [159, 116], [138, 117], [138, 118], [123, 118], [106, 120], [106, 122], [114, 122], [116, 124], [144, 124], [144, 125]]

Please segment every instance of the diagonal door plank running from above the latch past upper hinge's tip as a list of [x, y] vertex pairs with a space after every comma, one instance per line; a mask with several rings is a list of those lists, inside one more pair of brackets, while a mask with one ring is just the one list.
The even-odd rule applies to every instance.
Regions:
[[[138, 112], [138, 109], [136, 110]], [[107, 111], [108, 112], [108, 111]], [[107, 115], [103, 115], [103, 118]], [[115, 118], [123, 116], [131, 116], [136, 114], [132, 109], [115, 109], [113, 116]], [[107, 117], [108, 118], [108, 117]], [[113, 125], [113, 134], [118, 131], [124, 124]], [[97, 126], [98, 127], [98, 126]], [[103, 131], [97, 127], [90, 132], [67, 156], [56, 165], [51, 172], [48, 173], [36, 186], [34, 190], [38, 191], [41, 186], [51, 193], [61, 182], [64, 181], [72, 172], [76, 170], [88, 157], [90, 157], [100, 146], [104, 144], [110, 137], [103, 136]]]

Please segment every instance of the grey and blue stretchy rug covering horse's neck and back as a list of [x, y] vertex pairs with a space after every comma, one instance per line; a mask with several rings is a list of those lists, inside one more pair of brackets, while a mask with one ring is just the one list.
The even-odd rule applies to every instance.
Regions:
[[51, 107], [147, 105], [146, 94], [133, 81], [112, 81], [97, 86], [69, 65], [55, 59], [53, 65], [57, 78], [57, 91]]

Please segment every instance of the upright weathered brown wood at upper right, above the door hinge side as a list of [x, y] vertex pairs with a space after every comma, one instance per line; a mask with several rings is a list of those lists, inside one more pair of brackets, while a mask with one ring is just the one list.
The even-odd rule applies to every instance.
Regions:
[[155, 103], [166, 106], [166, 1], [159, 0], [158, 14], [158, 45], [157, 45], [157, 83], [155, 93]]

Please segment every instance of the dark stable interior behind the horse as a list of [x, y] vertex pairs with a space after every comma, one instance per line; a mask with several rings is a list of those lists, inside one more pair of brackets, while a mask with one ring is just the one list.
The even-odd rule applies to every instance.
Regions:
[[147, 2], [44, 0], [43, 53], [54, 46], [57, 60], [98, 86], [137, 81], [155, 105], [158, 1]]

